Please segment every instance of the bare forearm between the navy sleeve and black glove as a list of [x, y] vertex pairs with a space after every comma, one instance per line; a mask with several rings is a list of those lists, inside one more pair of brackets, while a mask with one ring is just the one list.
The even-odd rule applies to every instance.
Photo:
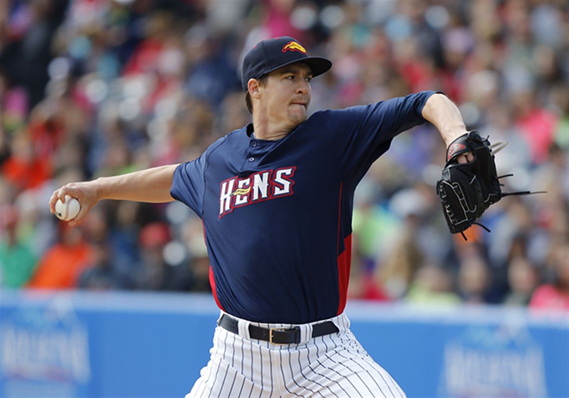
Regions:
[[459, 109], [444, 94], [433, 94], [423, 106], [422, 115], [440, 132], [447, 146], [467, 132]]

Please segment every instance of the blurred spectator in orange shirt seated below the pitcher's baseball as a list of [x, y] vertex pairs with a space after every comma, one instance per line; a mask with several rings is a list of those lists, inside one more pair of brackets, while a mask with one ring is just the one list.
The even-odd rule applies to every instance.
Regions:
[[77, 277], [93, 259], [93, 248], [86, 241], [83, 229], [60, 222], [59, 242], [40, 259], [28, 287], [36, 289], [71, 289]]

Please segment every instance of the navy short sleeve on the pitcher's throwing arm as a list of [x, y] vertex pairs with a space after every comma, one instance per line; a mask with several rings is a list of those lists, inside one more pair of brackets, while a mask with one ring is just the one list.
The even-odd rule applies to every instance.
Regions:
[[204, 197], [205, 152], [195, 160], [180, 164], [172, 178], [171, 196], [201, 217]]

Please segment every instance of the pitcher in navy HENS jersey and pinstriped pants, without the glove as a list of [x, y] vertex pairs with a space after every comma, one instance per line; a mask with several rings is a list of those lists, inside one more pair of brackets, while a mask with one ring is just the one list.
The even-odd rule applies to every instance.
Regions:
[[[356, 185], [399, 132], [425, 121], [450, 143], [466, 128], [443, 94], [422, 92], [310, 118], [311, 79], [331, 61], [291, 37], [242, 65], [253, 123], [200, 157], [56, 190], [81, 202], [182, 201], [204, 223], [221, 309], [211, 359], [190, 397], [403, 397], [344, 313]], [[461, 156], [468, 161], [470, 154]]]

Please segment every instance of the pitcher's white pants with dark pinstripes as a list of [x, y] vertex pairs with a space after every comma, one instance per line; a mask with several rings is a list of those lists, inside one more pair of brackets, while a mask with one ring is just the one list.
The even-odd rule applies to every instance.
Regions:
[[[239, 320], [238, 335], [217, 326], [211, 358], [185, 398], [405, 397], [356, 340], [348, 317], [342, 313], [330, 321], [340, 332], [316, 338], [311, 337], [312, 324]], [[301, 342], [279, 345], [251, 339], [251, 323], [267, 328], [300, 326]]]

